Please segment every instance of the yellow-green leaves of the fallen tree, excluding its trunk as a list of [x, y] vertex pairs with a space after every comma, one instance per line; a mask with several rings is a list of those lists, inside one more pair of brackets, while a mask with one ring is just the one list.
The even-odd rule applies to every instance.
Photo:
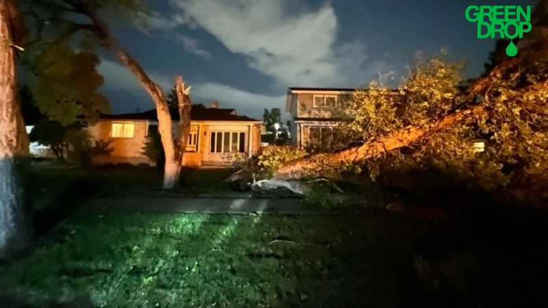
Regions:
[[[405, 127], [428, 125], [462, 103], [477, 104], [463, 95], [462, 67], [460, 62], [447, 64], [440, 55], [419, 58], [397, 92], [375, 82], [369, 90], [356, 92], [347, 110], [355, 120], [342, 129], [347, 135], [371, 140]], [[440, 170], [469, 188], [487, 191], [514, 189], [523, 187], [525, 179], [541, 179], [548, 175], [548, 89], [527, 85], [540, 80], [545, 68], [540, 62], [500, 76], [479, 99], [487, 110], [482, 116], [375, 155], [364, 162], [366, 169], [373, 179], [394, 170]], [[477, 138], [486, 142], [483, 153], [473, 151]], [[530, 186], [538, 187], [530, 197], [548, 197], [540, 184]]]

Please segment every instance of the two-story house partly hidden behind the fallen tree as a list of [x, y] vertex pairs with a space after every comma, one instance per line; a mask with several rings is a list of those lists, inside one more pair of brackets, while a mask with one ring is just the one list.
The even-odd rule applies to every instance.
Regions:
[[337, 125], [351, 120], [345, 113], [355, 88], [288, 88], [291, 142], [300, 148], [328, 146], [336, 140]]

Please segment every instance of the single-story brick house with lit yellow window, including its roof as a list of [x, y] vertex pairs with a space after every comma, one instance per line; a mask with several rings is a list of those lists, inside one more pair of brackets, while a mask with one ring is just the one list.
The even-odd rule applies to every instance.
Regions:
[[[173, 113], [171, 118], [177, 129], [179, 115]], [[260, 149], [260, 120], [239, 116], [234, 109], [216, 107], [192, 107], [190, 118], [183, 166], [226, 166], [232, 163], [233, 153], [251, 157]], [[142, 147], [151, 131], [158, 131], [156, 110], [103, 115], [88, 131], [97, 140], [112, 140], [112, 153], [97, 157], [98, 164], [154, 164], [142, 154]]]

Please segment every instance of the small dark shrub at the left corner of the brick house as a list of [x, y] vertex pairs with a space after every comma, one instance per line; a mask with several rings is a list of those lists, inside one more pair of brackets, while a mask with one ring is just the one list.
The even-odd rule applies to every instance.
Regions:
[[86, 130], [69, 131], [67, 140], [70, 144], [67, 158], [79, 166], [93, 166], [97, 156], [112, 153], [112, 140], [93, 140]]

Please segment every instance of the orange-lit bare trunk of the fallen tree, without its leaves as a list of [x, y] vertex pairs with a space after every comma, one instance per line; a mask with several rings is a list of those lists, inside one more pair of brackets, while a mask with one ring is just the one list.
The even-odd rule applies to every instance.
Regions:
[[[465, 96], [475, 100], [475, 97], [484, 94], [494, 81], [507, 75], [509, 72], [519, 70], [519, 65], [527, 61], [532, 61], [535, 57], [546, 57], [548, 50], [548, 0], [541, 0], [532, 16], [532, 31], [527, 33], [522, 40], [519, 40], [517, 46], [519, 54], [515, 57], [509, 57], [499, 66], [496, 66], [489, 73], [478, 78], [465, 92]], [[530, 88], [547, 87], [548, 77], [537, 81]], [[281, 168], [274, 172], [276, 179], [301, 179], [307, 176], [326, 175], [323, 166], [336, 164], [337, 162], [356, 162], [364, 159], [370, 159], [399, 149], [403, 146], [409, 146], [420, 138], [430, 133], [439, 131], [451, 125], [458, 125], [463, 120], [471, 116], [479, 116], [486, 110], [482, 105], [473, 105], [464, 107], [460, 110], [454, 110], [444, 118], [433, 119], [427, 125], [421, 127], [406, 127], [400, 131], [395, 131], [389, 136], [382, 136], [364, 142], [361, 146], [352, 149], [332, 153], [327, 155], [310, 155], [301, 159], [295, 159], [286, 162]]]

